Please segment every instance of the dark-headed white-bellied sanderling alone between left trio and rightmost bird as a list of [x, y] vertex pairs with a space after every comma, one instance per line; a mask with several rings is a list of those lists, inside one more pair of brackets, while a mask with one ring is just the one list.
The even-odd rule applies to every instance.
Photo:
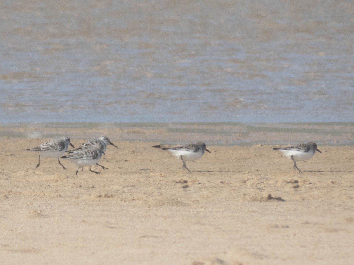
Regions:
[[185, 161], [194, 161], [201, 158], [204, 154], [204, 151], [210, 153], [210, 151], [206, 149], [205, 143], [202, 142], [191, 145], [182, 145], [178, 147], [161, 147], [160, 145], [153, 145], [152, 147], [161, 148], [162, 150], [169, 150], [176, 157], [181, 158], [183, 167], [188, 170], [188, 173], [192, 172], [187, 168], [187, 166], [185, 166]]

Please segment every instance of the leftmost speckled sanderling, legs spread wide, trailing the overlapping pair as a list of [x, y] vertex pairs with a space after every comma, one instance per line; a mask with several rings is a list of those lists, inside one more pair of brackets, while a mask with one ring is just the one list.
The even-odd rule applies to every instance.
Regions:
[[27, 151], [36, 151], [38, 152], [38, 165], [36, 166], [39, 167], [41, 156], [42, 157], [57, 157], [59, 164], [63, 167], [63, 169], [66, 169], [62, 163], [60, 163], [59, 157], [65, 153], [65, 151], [68, 150], [68, 147], [74, 145], [70, 143], [70, 138], [69, 137], [60, 137], [59, 139], [52, 139], [49, 140], [45, 143], [42, 143], [40, 146], [33, 147], [26, 149]]

